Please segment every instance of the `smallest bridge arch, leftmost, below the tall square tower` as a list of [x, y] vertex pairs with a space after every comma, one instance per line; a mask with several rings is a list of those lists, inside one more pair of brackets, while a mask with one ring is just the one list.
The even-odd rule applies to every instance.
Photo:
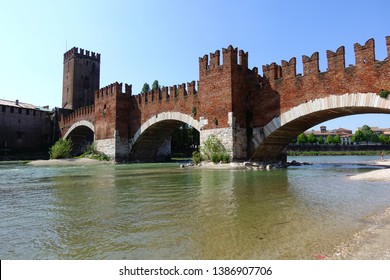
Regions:
[[81, 120], [72, 124], [63, 136], [64, 139], [72, 139], [73, 153], [81, 154], [86, 151], [87, 145], [95, 139], [95, 126], [92, 122]]

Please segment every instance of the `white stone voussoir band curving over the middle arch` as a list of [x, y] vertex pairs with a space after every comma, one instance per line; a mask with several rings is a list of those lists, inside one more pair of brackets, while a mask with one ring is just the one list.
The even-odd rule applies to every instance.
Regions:
[[154, 117], [151, 117], [149, 120], [144, 122], [142, 126], [134, 134], [131, 144], [137, 142], [138, 138], [142, 135], [142, 133], [144, 133], [145, 130], [147, 130], [155, 123], [162, 122], [162, 121], [170, 121], [170, 120], [181, 121], [183, 123], [189, 124], [196, 130], [200, 131], [200, 123], [190, 115], [186, 115], [180, 112], [163, 112], [155, 115]]

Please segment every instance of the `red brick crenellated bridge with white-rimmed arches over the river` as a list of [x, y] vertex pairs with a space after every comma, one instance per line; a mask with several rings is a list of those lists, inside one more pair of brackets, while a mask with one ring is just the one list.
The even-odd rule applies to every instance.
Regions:
[[324, 121], [354, 114], [390, 113], [390, 36], [387, 55], [375, 59], [373, 39], [354, 45], [355, 65], [345, 67], [345, 49], [248, 68], [248, 53], [232, 46], [199, 58], [199, 81], [132, 95], [114, 83], [95, 92], [93, 105], [60, 120], [62, 136], [95, 141], [116, 161], [156, 161], [170, 154], [170, 136], [183, 124], [200, 132], [202, 144], [216, 135], [234, 160], [284, 161], [288, 143]]

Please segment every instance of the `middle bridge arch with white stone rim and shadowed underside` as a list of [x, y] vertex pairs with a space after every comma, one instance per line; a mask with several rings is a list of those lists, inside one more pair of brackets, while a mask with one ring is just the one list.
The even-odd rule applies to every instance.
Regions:
[[130, 160], [165, 160], [170, 155], [170, 136], [183, 124], [200, 131], [196, 119], [180, 112], [159, 113], [145, 121], [129, 141]]

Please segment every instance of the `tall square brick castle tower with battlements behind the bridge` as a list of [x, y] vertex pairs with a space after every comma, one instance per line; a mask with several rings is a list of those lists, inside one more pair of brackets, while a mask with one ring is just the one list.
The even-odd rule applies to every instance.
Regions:
[[74, 47], [64, 54], [62, 107], [76, 110], [92, 105], [99, 90], [100, 54]]

